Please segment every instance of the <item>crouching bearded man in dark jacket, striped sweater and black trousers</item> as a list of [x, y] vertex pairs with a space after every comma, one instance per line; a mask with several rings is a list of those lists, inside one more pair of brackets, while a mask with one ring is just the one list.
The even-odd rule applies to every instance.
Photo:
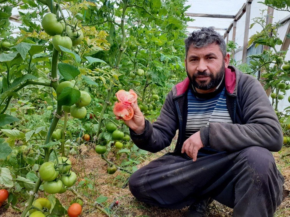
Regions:
[[[282, 147], [282, 130], [258, 80], [229, 66], [226, 45], [213, 27], [185, 40], [188, 75], [168, 93], [157, 121], [124, 121], [141, 149], [158, 152], [178, 139], [173, 153], [151, 161], [129, 179], [145, 203], [186, 216], [206, 216], [214, 199], [233, 216], [273, 216], [282, 201], [283, 176], [270, 151]], [[120, 119], [120, 117], [117, 117]]]

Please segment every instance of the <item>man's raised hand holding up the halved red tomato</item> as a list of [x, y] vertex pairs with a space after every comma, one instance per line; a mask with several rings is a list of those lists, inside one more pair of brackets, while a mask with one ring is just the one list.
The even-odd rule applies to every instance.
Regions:
[[[130, 91], [133, 91], [133, 90], [130, 89]], [[115, 104], [116, 103], [117, 102], [115, 102]], [[138, 107], [137, 100], [135, 102], [132, 102], [131, 106], [132, 106], [133, 111], [134, 111], [134, 115], [133, 115], [132, 119], [124, 120], [122, 117], [116, 117], [116, 119], [117, 120], [122, 119], [128, 127], [130, 127], [132, 130], [134, 130], [134, 132], [136, 134], [141, 134], [145, 130], [144, 116], [143, 116], [142, 112], [140, 111], [140, 108]]]

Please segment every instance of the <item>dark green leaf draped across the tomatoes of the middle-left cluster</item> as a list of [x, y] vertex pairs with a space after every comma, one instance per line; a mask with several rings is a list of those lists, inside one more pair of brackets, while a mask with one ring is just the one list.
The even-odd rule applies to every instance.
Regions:
[[71, 87], [65, 87], [57, 97], [57, 104], [72, 106], [81, 97], [81, 92]]

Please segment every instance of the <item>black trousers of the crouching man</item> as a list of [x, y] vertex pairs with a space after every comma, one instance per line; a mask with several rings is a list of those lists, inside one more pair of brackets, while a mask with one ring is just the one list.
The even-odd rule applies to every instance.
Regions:
[[181, 209], [204, 198], [233, 208], [233, 217], [273, 216], [282, 202], [284, 177], [265, 148], [251, 146], [186, 160], [164, 155], [134, 172], [133, 196], [145, 203]]

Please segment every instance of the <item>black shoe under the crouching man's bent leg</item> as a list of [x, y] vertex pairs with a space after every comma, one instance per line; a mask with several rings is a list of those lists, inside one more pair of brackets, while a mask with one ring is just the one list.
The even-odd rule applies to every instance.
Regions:
[[206, 217], [207, 212], [206, 208], [209, 203], [211, 203], [213, 199], [206, 198], [202, 201], [197, 201], [188, 208], [186, 212], [186, 217]]

